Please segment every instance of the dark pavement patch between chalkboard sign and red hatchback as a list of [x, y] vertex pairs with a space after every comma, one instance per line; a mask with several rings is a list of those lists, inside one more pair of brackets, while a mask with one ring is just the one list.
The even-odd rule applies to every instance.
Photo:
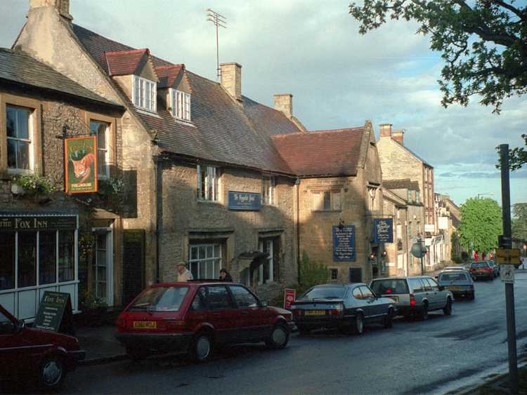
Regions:
[[115, 338], [115, 326], [80, 326], [75, 337], [86, 351], [86, 358], [79, 365], [92, 365], [126, 358], [124, 347]]

